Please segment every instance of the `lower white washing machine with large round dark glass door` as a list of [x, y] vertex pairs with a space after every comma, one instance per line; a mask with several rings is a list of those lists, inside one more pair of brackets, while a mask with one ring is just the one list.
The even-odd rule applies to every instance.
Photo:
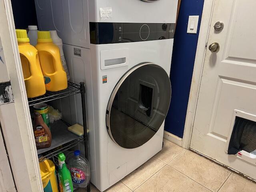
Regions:
[[[86, 82], [91, 181], [100, 191], [162, 149], [172, 44], [168, 39], [92, 44], [91, 49], [63, 46], [72, 81]], [[82, 115], [76, 107], [73, 123], [76, 113]]]

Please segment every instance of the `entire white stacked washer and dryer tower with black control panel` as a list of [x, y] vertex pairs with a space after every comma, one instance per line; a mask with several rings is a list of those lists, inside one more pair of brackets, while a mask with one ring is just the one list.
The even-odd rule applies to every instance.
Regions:
[[[62, 38], [70, 80], [86, 82], [91, 182], [104, 191], [162, 149], [178, 0], [35, 2], [39, 29]], [[60, 104], [72, 124], [80, 99]]]

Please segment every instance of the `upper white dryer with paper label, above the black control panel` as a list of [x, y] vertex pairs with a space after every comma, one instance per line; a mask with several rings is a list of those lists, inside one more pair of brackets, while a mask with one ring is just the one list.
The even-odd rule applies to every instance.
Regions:
[[39, 30], [57, 30], [64, 44], [84, 48], [90, 48], [89, 22], [171, 24], [176, 22], [177, 4], [178, 0], [35, 0]]

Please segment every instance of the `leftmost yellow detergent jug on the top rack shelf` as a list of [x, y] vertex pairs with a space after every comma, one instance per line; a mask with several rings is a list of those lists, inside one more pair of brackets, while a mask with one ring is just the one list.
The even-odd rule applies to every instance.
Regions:
[[27, 31], [16, 29], [20, 60], [28, 98], [45, 94], [44, 76], [39, 63], [38, 51], [30, 45]]

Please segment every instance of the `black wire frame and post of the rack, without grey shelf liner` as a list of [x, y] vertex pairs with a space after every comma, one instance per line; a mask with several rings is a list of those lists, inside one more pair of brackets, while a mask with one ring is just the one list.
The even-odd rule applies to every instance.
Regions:
[[[86, 89], [85, 89], [84, 82], [80, 82], [80, 85], [78, 85], [68, 81], [68, 88], [64, 90], [57, 91], [57, 92], [47, 91], [46, 94], [44, 94], [43, 96], [28, 98], [28, 106], [34, 106], [36, 104], [58, 100], [58, 99], [65, 98], [65, 97], [72, 96], [79, 93], [81, 94], [81, 98], [82, 98], [82, 116], [83, 116], [84, 135], [64, 144], [62, 147], [58, 146], [57, 148], [46, 150], [45, 152], [43, 152], [43, 153], [46, 153], [46, 155], [40, 158], [39, 162], [40, 160], [42, 161], [42, 160], [46, 160], [48, 158], [54, 157], [62, 151], [65, 151], [74, 146], [77, 146], [80, 142], [84, 142], [85, 157], [90, 162], [87, 121], [86, 121], [86, 100], [85, 100]], [[87, 192], [90, 192], [90, 182], [87, 186]]]

